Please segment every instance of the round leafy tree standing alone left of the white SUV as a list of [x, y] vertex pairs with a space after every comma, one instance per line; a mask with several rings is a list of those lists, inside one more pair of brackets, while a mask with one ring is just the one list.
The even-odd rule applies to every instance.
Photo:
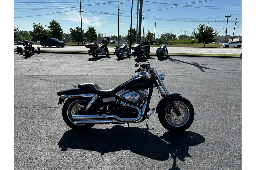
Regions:
[[197, 27], [197, 30], [199, 33], [194, 32], [194, 35], [199, 43], [204, 43], [204, 47], [206, 44], [214, 42], [216, 39], [218, 39], [218, 37], [214, 38], [214, 36], [218, 35], [219, 32], [214, 32], [212, 27], [205, 27], [205, 24], [200, 24], [199, 28]]

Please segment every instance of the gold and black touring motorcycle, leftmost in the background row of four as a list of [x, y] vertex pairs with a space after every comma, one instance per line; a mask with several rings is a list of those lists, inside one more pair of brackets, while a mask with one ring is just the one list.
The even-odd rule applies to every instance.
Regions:
[[92, 41], [90, 43], [85, 44], [86, 48], [90, 48], [90, 50], [88, 50], [89, 56], [92, 55], [94, 58], [97, 58], [98, 55], [108, 54], [108, 47], [107, 47], [108, 41], [106, 39], [104, 39], [101, 42], [99, 42], [98, 44], [96, 42], [92, 42]]

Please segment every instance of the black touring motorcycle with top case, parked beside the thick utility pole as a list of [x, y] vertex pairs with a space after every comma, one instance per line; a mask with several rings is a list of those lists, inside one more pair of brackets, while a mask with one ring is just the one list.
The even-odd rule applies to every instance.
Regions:
[[143, 55], [149, 56], [150, 53], [150, 41], [146, 41], [146, 42], [137, 42], [134, 43], [131, 46], [131, 49], [134, 50], [133, 56], [137, 57], [138, 59], [141, 59], [143, 57]]

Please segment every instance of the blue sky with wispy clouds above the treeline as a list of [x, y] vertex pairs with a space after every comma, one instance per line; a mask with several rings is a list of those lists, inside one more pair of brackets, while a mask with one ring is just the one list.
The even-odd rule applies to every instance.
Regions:
[[[119, 1], [119, 35], [126, 36], [131, 23], [131, 0]], [[82, 28], [94, 27], [104, 36], [118, 34], [118, 1], [81, 0]], [[199, 24], [213, 27], [219, 35], [242, 35], [241, 0], [143, 0], [142, 32], [191, 35]], [[55, 20], [64, 33], [81, 26], [79, 0], [14, 0], [14, 27], [31, 31], [33, 22], [46, 25]], [[237, 22], [236, 22], [237, 17]], [[235, 26], [236, 22], [236, 26]], [[137, 27], [137, 0], [133, 0], [132, 28]], [[234, 30], [235, 27], [235, 30]]]

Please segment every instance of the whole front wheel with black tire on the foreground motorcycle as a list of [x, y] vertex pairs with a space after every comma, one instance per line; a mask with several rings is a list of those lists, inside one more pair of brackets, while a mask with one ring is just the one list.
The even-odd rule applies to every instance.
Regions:
[[162, 126], [173, 133], [188, 129], [193, 123], [195, 111], [192, 104], [180, 95], [172, 97], [181, 116], [177, 116], [171, 104], [163, 103], [158, 111], [158, 119]]

